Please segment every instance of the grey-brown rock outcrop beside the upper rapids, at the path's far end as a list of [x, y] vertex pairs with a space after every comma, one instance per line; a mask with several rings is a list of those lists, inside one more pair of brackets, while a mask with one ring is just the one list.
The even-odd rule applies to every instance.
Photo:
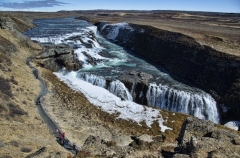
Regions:
[[65, 44], [43, 44], [43, 46], [45, 50], [36, 57], [38, 64], [42, 67], [55, 72], [63, 67], [74, 71], [81, 68], [81, 64], [70, 46]]

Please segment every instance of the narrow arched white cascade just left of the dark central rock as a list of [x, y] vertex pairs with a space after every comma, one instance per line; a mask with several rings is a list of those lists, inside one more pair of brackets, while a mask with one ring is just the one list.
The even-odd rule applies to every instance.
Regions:
[[128, 89], [125, 85], [120, 82], [119, 80], [112, 81], [108, 87], [109, 92], [113, 93], [114, 95], [124, 99], [133, 101], [131, 94], [129, 93]]

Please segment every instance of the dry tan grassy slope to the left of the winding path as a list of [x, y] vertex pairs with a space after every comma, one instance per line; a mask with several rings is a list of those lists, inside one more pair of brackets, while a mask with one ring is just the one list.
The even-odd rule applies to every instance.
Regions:
[[[0, 157], [26, 157], [43, 146], [47, 148], [43, 157], [58, 151], [62, 156], [67, 155], [55, 142], [34, 105], [40, 87], [26, 60], [38, 54], [41, 47], [31, 41], [28, 44], [29, 47], [23, 45], [15, 33], [0, 29], [0, 133], [5, 144], [0, 149]], [[31, 147], [31, 151], [24, 147]]]

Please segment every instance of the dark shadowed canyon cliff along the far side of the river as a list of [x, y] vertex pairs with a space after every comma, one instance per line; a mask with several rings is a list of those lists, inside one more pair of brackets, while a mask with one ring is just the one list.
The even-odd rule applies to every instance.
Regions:
[[179, 76], [209, 92], [219, 105], [228, 107], [223, 121], [239, 119], [239, 57], [200, 45], [189, 36], [151, 26], [96, 25], [106, 38], [163, 66], [173, 77]]

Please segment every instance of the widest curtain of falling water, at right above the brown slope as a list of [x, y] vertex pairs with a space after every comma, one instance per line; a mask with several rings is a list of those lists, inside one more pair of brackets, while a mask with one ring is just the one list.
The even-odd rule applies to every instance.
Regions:
[[146, 97], [149, 105], [219, 123], [216, 102], [209, 94], [190, 93], [151, 83]]

